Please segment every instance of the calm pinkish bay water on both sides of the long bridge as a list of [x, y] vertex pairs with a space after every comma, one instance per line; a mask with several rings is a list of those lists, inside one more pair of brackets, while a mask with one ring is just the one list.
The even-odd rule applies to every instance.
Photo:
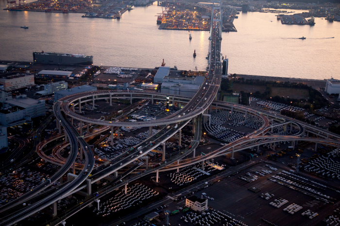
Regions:
[[[5, 5], [0, 0], [0, 8]], [[120, 20], [0, 10], [0, 59], [32, 61], [33, 51], [44, 50], [93, 55], [99, 65], [153, 68], [165, 59], [167, 66], [205, 69], [208, 31], [192, 31], [189, 41], [188, 31], [158, 30], [154, 15], [160, 7], [135, 8]], [[340, 79], [340, 22], [316, 18], [313, 27], [281, 25], [274, 15], [240, 13], [238, 32], [222, 34], [230, 73]]]

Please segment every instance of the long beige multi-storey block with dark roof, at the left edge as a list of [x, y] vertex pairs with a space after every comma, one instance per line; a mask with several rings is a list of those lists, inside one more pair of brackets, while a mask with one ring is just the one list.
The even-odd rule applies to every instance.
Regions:
[[23, 73], [8, 73], [0, 76], [0, 85], [5, 91], [17, 90], [34, 86], [34, 75]]

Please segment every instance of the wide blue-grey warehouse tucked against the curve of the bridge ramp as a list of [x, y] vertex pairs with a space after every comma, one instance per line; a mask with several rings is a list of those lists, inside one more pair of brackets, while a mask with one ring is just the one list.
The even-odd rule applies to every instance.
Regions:
[[194, 96], [204, 82], [204, 76], [164, 77], [161, 93], [170, 95]]

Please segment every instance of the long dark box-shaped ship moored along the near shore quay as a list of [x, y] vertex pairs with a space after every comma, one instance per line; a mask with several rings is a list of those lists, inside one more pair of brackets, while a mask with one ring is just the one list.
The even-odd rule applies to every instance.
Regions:
[[93, 65], [93, 56], [42, 51], [33, 52], [33, 61], [36, 63]]

